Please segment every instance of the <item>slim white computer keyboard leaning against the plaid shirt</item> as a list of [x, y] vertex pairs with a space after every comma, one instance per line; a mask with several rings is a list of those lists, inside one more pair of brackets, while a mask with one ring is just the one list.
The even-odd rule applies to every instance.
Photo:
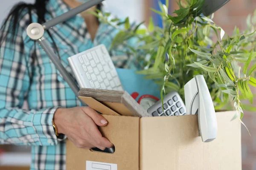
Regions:
[[80, 88], [123, 91], [116, 68], [105, 45], [83, 51], [67, 61]]

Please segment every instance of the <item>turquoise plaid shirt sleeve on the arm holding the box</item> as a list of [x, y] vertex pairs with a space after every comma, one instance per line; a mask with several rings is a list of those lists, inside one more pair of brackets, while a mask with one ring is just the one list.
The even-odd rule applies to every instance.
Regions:
[[22, 109], [31, 78], [31, 55], [24, 50], [22, 36], [24, 23], [21, 20], [15, 33], [9, 31], [6, 34], [10, 28], [0, 31], [6, 36], [0, 46], [0, 144], [54, 145], [59, 139], [55, 135], [52, 119], [58, 107]]

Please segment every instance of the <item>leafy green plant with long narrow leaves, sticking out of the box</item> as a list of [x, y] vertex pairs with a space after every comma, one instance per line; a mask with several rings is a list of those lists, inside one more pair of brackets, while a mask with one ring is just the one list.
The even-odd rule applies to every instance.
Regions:
[[[138, 48], [126, 51], [137, 57], [145, 79], [154, 79], [162, 86], [161, 98], [170, 92], [178, 91], [184, 99], [183, 86], [195, 75], [202, 74], [206, 79], [216, 110], [236, 108], [233, 119], [243, 117], [243, 110], [256, 111], [244, 99], [253, 102], [249, 85], [256, 87], [254, 71], [256, 52], [256, 11], [247, 18], [247, 29], [240, 32], [235, 28], [229, 37], [224, 30], [212, 21], [213, 15], [204, 17], [201, 8], [204, 0], [179, 1], [179, 9], [171, 16], [166, 5], [159, 3], [161, 11], [154, 12], [163, 19], [163, 28], [154, 26], [152, 18], [148, 28], [141, 24], [131, 27], [129, 19], [109, 19], [111, 14], [94, 13], [103, 22], [120, 29], [113, 39], [112, 48], [127, 45], [130, 38], [137, 38]], [[220, 34], [219, 34], [220, 33]], [[213, 41], [211, 37], [216, 37]], [[141, 52], [142, 51], [142, 52]], [[243, 104], [242, 104], [243, 103]]]

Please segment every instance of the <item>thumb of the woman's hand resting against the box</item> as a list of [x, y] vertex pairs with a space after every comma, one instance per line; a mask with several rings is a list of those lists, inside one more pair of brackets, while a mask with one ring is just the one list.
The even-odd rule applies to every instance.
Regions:
[[94, 109], [90, 107], [84, 107], [83, 111], [90, 116], [90, 118], [93, 119], [93, 121], [96, 123], [98, 126], [106, 126], [108, 124], [108, 121], [98, 112], [96, 112]]

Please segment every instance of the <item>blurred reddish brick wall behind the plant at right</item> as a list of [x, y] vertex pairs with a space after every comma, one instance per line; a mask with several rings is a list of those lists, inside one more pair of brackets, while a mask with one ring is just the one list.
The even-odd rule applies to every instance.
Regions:
[[[177, 9], [172, 0], [172, 11]], [[214, 22], [221, 26], [228, 35], [233, 34], [234, 27], [240, 30], [246, 28], [246, 18], [256, 9], [256, 0], [230, 0], [225, 6], [215, 12]], [[256, 94], [256, 88], [253, 89]], [[252, 91], [253, 91], [252, 90]], [[256, 105], [256, 100], [254, 100]], [[256, 113], [246, 112], [243, 118], [244, 124], [250, 131], [242, 126], [242, 170], [256, 170]]]

